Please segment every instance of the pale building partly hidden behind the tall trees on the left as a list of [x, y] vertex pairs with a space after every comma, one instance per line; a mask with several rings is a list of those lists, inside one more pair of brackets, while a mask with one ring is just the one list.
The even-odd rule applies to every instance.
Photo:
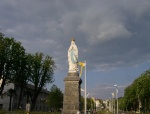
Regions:
[[[34, 90], [34, 86], [28, 84], [27, 88], [30, 89], [30, 92], [32, 94], [32, 91]], [[19, 94], [20, 94], [20, 87], [14, 83], [6, 84], [4, 87], [3, 93], [6, 93], [9, 89], [14, 89], [16, 93], [16, 95], [13, 95], [13, 98], [12, 98], [11, 110], [18, 109], [17, 106], [18, 106], [18, 100], [19, 100]], [[46, 103], [48, 93], [49, 91], [45, 89], [41, 91], [36, 102], [35, 111], [49, 111], [50, 110], [48, 104]], [[3, 108], [4, 110], [8, 110], [9, 102], [10, 102], [10, 96], [5, 95], [3, 97], [0, 97], [0, 108]], [[21, 106], [20, 106], [22, 110], [26, 110], [27, 102], [31, 104], [31, 98], [28, 96], [26, 91], [23, 91]]]

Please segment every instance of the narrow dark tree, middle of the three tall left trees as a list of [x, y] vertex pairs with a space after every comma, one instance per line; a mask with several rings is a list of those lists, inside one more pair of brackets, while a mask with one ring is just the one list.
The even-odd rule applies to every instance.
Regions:
[[22, 94], [26, 87], [26, 84], [30, 77], [30, 55], [23, 53], [20, 56], [20, 59], [14, 60], [15, 76], [13, 77], [13, 82], [20, 87], [19, 100], [18, 100], [18, 109], [21, 104]]

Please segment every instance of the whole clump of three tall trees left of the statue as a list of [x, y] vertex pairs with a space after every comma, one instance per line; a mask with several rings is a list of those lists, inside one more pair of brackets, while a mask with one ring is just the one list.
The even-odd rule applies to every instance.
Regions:
[[33, 110], [42, 88], [47, 83], [53, 82], [54, 69], [55, 63], [52, 57], [44, 56], [42, 53], [26, 54], [20, 42], [0, 33], [0, 79], [2, 79], [0, 95], [8, 81], [19, 85], [21, 90], [19, 107], [26, 84], [30, 82], [34, 85], [33, 93], [28, 95], [31, 97], [31, 110]]

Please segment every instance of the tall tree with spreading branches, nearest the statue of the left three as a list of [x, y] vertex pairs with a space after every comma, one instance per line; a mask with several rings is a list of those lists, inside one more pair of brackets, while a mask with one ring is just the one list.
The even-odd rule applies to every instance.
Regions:
[[50, 56], [44, 57], [42, 53], [36, 53], [30, 56], [30, 72], [29, 81], [34, 85], [34, 91], [31, 98], [31, 110], [34, 110], [36, 100], [47, 83], [53, 82], [53, 74], [55, 63]]

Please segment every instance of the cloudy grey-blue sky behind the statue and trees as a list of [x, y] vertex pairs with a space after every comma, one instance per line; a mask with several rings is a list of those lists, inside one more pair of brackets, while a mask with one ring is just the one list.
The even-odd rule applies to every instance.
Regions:
[[149, 0], [1, 0], [0, 32], [28, 53], [52, 56], [54, 84], [62, 91], [72, 37], [79, 60], [87, 61], [87, 92], [95, 98], [111, 98], [114, 84], [123, 96], [150, 68]]

